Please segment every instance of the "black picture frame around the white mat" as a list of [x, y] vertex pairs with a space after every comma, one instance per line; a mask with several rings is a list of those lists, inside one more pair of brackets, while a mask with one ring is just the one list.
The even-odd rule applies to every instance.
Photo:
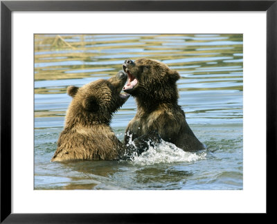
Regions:
[[[274, 1], [1, 1], [1, 223], [163, 223], [186, 214], [11, 213], [11, 13], [13, 11], [266, 11], [267, 13], [267, 212], [276, 198], [277, 0]], [[258, 90], [257, 90], [258, 91]], [[258, 105], [257, 105], [258, 106]], [[253, 124], [255, 125], [255, 124]], [[258, 130], [257, 130], [258, 131]], [[257, 180], [258, 181], [258, 180]], [[184, 202], [185, 203], [185, 202]]]

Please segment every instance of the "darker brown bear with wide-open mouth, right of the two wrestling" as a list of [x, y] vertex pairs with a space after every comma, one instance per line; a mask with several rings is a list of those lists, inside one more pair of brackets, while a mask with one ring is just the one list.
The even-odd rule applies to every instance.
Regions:
[[180, 75], [154, 59], [127, 59], [123, 70], [128, 75], [123, 91], [134, 96], [137, 112], [129, 122], [125, 144], [148, 131], [157, 131], [161, 138], [184, 151], [205, 149], [188, 126], [178, 105], [177, 80]]

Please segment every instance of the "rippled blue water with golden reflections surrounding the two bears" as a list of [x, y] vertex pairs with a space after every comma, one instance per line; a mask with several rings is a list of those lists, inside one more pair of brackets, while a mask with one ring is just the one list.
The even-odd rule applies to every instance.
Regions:
[[[35, 189], [242, 189], [242, 35], [35, 35]], [[162, 142], [132, 161], [49, 162], [69, 85], [107, 79], [127, 58], [158, 59], [181, 75], [179, 105], [207, 150]], [[111, 127], [120, 140], [130, 97]]]

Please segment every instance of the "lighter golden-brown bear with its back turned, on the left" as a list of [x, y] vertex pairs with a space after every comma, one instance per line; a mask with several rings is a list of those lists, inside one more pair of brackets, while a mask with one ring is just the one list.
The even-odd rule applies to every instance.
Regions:
[[112, 114], [129, 97], [127, 93], [120, 93], [126, 80], [127, 74], [120, 71], [109, 80], [67, 88], [73, 100], [66, 112], [64, 130], [57, 140], [57, 150], [51, 161], [129, 160], [161, 142], [159, 134], [150, 131], [127, 147], [111, 130]]

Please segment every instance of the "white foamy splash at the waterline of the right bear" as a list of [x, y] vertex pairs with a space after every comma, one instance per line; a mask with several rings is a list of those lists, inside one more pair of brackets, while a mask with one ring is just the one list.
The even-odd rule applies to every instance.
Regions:
[[197, 153], [184, 151], [179, 149], [170, 142], [164, 140], [159, 144], [155, 144], [154, 147], [150, 146], [149, 149], [140, 156], [134, 155], [132, 162], [135, 165], [153, 165], [157, 163], [171, 163], [171, 162], [195, 162], [197, 160], [206, 159], [206, 151], [200, 151]]

